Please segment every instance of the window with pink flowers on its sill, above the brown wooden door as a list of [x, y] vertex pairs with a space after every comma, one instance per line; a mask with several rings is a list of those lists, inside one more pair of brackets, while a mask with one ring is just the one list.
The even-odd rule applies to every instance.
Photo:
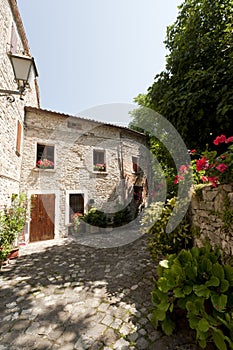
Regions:
[[37, 144], [36, 167], [54, 169], [54, 146]]

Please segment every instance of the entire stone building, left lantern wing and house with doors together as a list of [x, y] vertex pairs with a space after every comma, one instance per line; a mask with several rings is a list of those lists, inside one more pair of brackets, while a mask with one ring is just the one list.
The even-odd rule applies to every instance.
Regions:
[[[31, 59], [16, 0], [0, 0], [0, 16], [0, 90], [16, 91], [11, 58]], [[12, 194], [28, 195], [27, 242], [66, 236], [73, 215], [91, 207], [135, 213], [147, 200], [146, 137], [40, 109], [31, 61], [25, 95], [0, 94], [0, 210]]]

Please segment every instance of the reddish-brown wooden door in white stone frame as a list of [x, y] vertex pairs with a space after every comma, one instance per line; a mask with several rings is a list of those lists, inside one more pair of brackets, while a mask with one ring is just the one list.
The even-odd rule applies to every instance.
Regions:
[[54, 238], [55, 194], [31, 197], [30, 242]]

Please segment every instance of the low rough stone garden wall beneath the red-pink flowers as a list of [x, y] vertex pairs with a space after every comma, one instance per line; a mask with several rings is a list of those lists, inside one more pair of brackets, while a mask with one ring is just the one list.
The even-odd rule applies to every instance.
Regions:
[[200, 232], [195, 239], [198, 246], [207, 238], [212, 246], [233, 255], [233, 184], [206, 186], [194, 194], [191, 221]]

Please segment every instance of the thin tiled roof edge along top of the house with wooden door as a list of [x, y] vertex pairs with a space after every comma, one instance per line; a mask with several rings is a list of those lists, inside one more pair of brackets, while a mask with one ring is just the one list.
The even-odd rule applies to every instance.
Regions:
[[70, 114], [65, 114], [65, 113], [61, 113], [61, 112], [55, 112], [55, 111], [50, 111], [50, 110], [47, 110], [47, 109], [41, 109], [41, 108], [36, 108], [36, 107], [30, 107], [30, 106], [27, 106], [25, 107], [25, 112], [32, 112], [32, 113], [37, 113], [37, 114], [50, 114], [50, 115], [54, 115], [54, 116], [60, 116], [60, 117], [64, 117], [64, 118], [79, 118], [79, 119], [83, 119], [83, 120], [86, 120], [86, 121], [89, 121], [89, 122], [92, 122], [92, 123], [96, 123], [96, 124], [99, 124], [99, 125], [106, 125], [106, 126], [111, 126], [113, 128], [117, 128], [117, 129], [122, 129], [122, 130], [126, 130], [126, 131], [129, 131], [133, 134], [137, 134], [143, 138], [146, 138], [146, 135], [145, 134], [142, 134], [138, 131], [135, 131], [135, 130], [132, 130], [132, 129], [129, 129], [127, 128], [126, 126], [119, 126], [119, 125], [116, 125], [116, 124], [111, 124], [111, 123], [105, 123], [105, 122], [101, 122], [101, 121], [98, 121], [98, 120], [94, 120], [94, 119], [89, 119], [89, 118], [84, 118], [84, 117], [81, 117], [81, 116], [77, 116], [77, 115], [70, 115]]

